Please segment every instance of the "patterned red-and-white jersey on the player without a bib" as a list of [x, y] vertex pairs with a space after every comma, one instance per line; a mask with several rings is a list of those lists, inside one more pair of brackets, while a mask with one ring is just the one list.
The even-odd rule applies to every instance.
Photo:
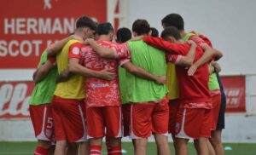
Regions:
[[[128, 47], [117, 43], [98, 41], [107, 48], [113, 48], [116, 51], [116, 58], [125, 58]], [[88, 45], [82, 45], [77, 53], [71, 53], [69, 57], [78, 58], [82, 66], [92, 70], [101, 71], [111, 69], [118, 75], [119, 60], [101, 58]], [[87, 107], [93, 106], [120, 106], [119, 79], [111, 81], [100, 78], [86, 78], [85, 81], [85, 102]]]

